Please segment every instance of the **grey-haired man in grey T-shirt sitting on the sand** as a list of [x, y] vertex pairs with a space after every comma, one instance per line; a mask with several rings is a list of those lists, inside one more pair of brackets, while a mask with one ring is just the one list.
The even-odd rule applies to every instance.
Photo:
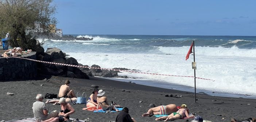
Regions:
[[36, 121], [44, 121], [47, 119], [50, 119], [52, 117], [58, 117], [58, 112], [52, 111], [51, 113], [48, 113], [48, 109], [43, 101], [43, 95], [37, 94], [36, 95], [36, 102], [33, 103], [33, 113]]

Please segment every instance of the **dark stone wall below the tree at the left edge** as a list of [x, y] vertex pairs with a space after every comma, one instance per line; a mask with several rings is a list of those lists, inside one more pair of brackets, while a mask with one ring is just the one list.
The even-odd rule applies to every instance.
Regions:
[[[36, 60], [36, 52], [23, 54], [23, 58]], [[20, 58], [0, 58], [0, 80], [32, 79], [37, 75], [35, 61]]]

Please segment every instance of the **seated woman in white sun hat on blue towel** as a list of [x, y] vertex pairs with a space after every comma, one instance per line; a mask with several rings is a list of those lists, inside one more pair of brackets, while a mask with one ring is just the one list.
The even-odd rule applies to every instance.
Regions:
[[113, 105], [109, 106], [108, 99], [105, 96], [103, 96], [104, 94], [105, 94], [105, 91], [103, 91], [103, 90], [98, 91], [98, 94], [97, 94], [97, 96], [98, 96], [98, 98], [97, 98], [97, 102], [98, 102], [97, 111], [98, 111], [99, 106], [104, 111], [107, 111], [107, 110], [119, 111], [119, 110], [116, 110], [116, 108]]

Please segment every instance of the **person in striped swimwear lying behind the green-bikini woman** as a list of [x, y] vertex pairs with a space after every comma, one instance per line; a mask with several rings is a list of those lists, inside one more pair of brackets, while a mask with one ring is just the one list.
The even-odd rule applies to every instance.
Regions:
[[170, 104], [166, 106], [162, 105], [162, 106], [157, 106], [149, 109], [147, 113], [142, 114], [142, 117], [146, 117], [146, 116], [151, 117], [152, 115], [169, 115], [178, 110], [179, 109], [175, 104]]

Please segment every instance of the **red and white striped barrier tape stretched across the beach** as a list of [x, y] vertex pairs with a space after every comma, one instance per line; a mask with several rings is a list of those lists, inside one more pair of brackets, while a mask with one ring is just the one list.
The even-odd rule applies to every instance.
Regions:
[[[78, 65], [71, 65], [71, 64], [62, 64], [62, 63], [55, 63], [55, 62], [39, 61], [39, 60], [30, 59], [30, 58], [22, 58], [22, 57], [13, 57], [13, 58], [21, 58], [21, 59], [26, 59], [26, 60], [36, 61], [36, 62], [42, 62], [42, 63], [47, 63], [47, 64], [55, 64], [55, 65], [63, 65], [63, 66], [73, 66], [73, 67], [78, 67], [78, 68], [106, 69], [106, 70], [132, 72], [132, 73], [141, 73], [141, 74], [154, 74], [154, 75], [160, 75], [160, 76], [176, 76], [176, 75], [169, 75], [169, 74], [134, 72], [134, 71], [128, 71], [128, 70], [119, 70], [119, 69], [94, 68], [94, 67], [89, 67], [89, 66], [78, 66]], [[194, 77], [194, 76], [176, 76], [176, 77]], [[195, 77], [195, 78], [203, 79], [203, 80], [210, 80], [210, 79], [199, 78], [199, 77]], [[210, 80], [210, 81], [214, 81], [214, 80]]]

